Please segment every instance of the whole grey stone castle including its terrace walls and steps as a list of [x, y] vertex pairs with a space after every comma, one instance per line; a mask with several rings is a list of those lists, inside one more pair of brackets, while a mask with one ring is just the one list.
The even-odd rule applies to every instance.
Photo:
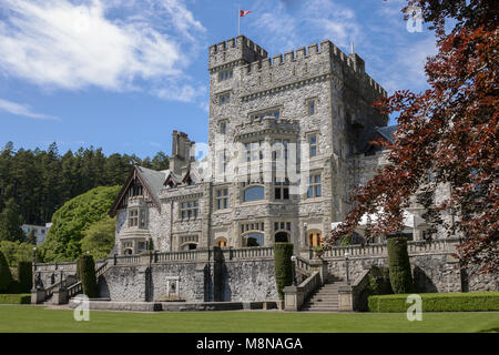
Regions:
[[[196, 144], [174, 131], [169, 170], [133, 169], [110, 211], [115, 247], [96, 263], [106, 301], [92, 307], [276, 306], [273, 245], [287, 241], [297, 285], [286, 291], [286, 310], [365, 310], [368, 274], [387, 265], [384, 239], [366, 245], [359, 225], [354, 245], [320, 260], [314, 246], [352, 209], [353, 190], [386, 163], [386, 151], [369, 143], [396, 131], [371, 106], [386, 91], [358, 54], [330, 41], [271, 60], [240, 36], [210, 48], [208, 72], [207, 154], [196, 159]], [[458, 239], [426, 239], [420, 207], [404, 224], [415, 292], [498, 288], [493, 277], [460, 270]], [[35, 265], [33, 302], [81, 293], [75, 271], [75, 263]]]

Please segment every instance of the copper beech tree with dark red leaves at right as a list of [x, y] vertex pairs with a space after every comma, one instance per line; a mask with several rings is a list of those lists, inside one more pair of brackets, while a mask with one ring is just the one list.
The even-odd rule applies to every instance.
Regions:
[[[498, 272], [498, 3], [413, 0], [403, 9], [419, 7], [435, 30], [438, 52], [425, 65], [430, 89], [397, 91], [375, 103], [386, 114], [398, 114], [394, 143], [376, 142], [389, 149], [388, 164], [356, 191], [354, 209], [323, 250], [350, 235], [364, 214], [376, 215], [368, 235], [397, 233], [403, 210], [417, 196], [434, 227], [446, 223], [444, 211], [456, 216], [445, 227], [462, 236], [461, 267]], [[448, 22], [454, 28], [446, 31]], [[450, 194], [437, 203], [442, 184]]]

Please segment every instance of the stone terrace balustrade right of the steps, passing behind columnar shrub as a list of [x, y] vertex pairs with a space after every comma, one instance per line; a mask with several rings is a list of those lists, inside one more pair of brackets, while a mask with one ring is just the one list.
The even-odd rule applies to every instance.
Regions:
[[[425, 253], [450, 253], [455, 252], [456, 245], [459, 243], [458, 239], [441, 239], [431, 242], [426, 241], [410, 241], [407, 243], [407, 251], [409, 255], [425, 254]], [[323, 258], [339, 258], [345, 257], [348, 253], [350, 257], [363, 256], [387, 256], [387, 245], [383, 244], [367, 244], [367, 245], [348, 245], [334, 246], [323, 254]]]

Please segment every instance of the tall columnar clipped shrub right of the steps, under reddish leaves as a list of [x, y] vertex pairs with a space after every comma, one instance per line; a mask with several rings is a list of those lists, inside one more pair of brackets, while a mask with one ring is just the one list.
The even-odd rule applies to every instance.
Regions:
[[410, 272], [407, 237], [393, 236], [387, 241], [388, 267], [391, 290], [396, 294], [413, 292], [413, 275]]

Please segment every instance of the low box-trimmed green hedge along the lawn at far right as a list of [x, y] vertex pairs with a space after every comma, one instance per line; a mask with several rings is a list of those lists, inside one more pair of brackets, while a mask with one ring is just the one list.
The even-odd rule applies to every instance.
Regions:
[[[370, 312], [407, 312], [405, 295], [369, 296]], [[499, 311], [499, 292], [421, 293], [422, 312]]]

